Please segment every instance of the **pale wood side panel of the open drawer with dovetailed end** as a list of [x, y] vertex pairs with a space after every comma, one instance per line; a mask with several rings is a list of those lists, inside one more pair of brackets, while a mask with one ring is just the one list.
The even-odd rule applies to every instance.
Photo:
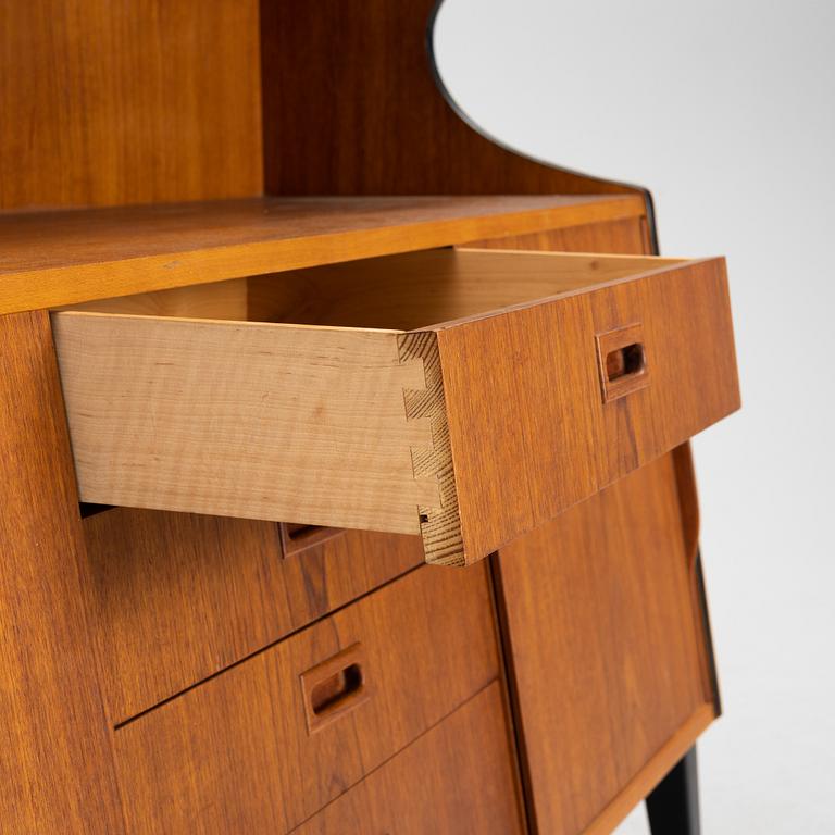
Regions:
[[[394, 332], [53, 317], [83, 500], [419, 533], [425, 387]], [[127, 443], [126, 443], [127, 441]]]

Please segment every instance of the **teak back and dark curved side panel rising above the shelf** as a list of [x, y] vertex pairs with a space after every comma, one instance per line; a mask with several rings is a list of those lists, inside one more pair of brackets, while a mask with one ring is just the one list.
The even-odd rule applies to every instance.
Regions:
[[0, 209], [639, 192], [524, 159], [468, 125], [427, 52], [435, 5], [5, 2]]

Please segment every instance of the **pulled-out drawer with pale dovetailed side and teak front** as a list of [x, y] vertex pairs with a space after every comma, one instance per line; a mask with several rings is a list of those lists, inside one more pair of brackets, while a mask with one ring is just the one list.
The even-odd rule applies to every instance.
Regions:
[[446, 564], [739, 406], [722, 259], [427, 250], [52, 321], [82, 500], [420, 533]]

